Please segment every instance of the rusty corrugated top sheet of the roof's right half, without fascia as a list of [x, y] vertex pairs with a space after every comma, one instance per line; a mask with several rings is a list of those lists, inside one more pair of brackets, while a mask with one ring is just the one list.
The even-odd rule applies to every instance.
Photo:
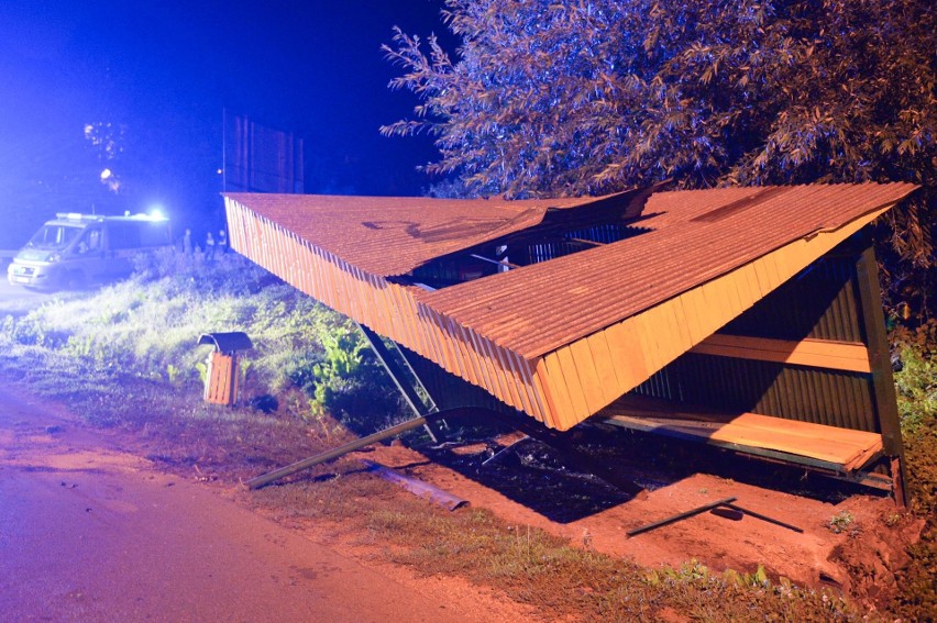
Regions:
[[[864, 183], [659, 192], [644, 207], [640, 225], [650, 230], [644, 234], [421, 294], [420, 301], [532, 358], [794, 240], [836, 230], [915, 188]], [[714, 214], [718, 218], [707, 218]]]

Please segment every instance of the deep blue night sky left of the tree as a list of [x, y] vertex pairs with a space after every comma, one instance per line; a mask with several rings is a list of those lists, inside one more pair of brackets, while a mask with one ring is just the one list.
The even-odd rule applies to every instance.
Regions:
[[[426, 138], [387, 138], [415, 97], [381, 44], [445, 36], [442, 0], [0, 3], [0, 249], [56, 211], [221, 218], [222, 110], [306, 142], [306, 191], [419, 194]], [[455, 41], [443, 40], [453, 48]], [[87, 123], [122, 127], [113, 159]], [[114, 193], [99, 180], [112, 168]], [[12, 223], [7, 227], [5, 223]], [[23, 230], [23, 231], [20, 231]], [[11, 240], [12, 238], [12, 240]]]

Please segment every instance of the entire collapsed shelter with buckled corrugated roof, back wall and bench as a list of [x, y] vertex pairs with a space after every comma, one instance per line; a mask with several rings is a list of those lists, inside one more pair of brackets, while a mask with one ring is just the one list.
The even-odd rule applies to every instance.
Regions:
[[696, 438], [902, 502], [867, 225], [915, 188], [232, 193], [225, 208], [234, 249], [397, 345], [434, 410]]

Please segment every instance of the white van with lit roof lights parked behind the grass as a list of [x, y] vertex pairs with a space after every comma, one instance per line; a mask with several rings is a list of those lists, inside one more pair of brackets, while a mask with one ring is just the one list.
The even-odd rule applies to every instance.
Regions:
[[7, 267], [7, 279], [27, 288], [80, 288], [126, 277], [133, 256], [173, 244], [162, 216], [58, 213]]

